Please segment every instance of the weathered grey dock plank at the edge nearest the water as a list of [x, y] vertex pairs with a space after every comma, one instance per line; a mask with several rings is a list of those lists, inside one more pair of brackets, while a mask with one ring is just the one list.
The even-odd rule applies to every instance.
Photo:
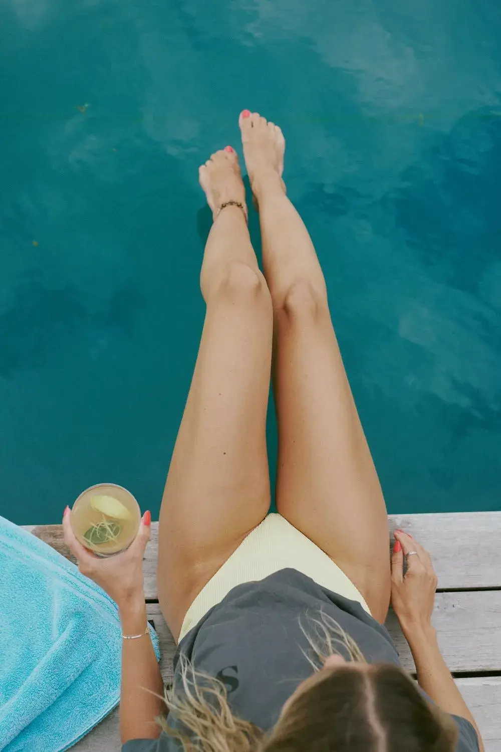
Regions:
[[[501, 512], [393, 514], [388, 521], [391, 531], [406, 530], [430, 551], [442, 590], [501, 587]], [[61, 525], [30, 525], [26, 529], [72, 559], [62, 539]], [[157, 555], [158, 523], [152, 523], [144, 560], [148, 599], [158, 598]]]

